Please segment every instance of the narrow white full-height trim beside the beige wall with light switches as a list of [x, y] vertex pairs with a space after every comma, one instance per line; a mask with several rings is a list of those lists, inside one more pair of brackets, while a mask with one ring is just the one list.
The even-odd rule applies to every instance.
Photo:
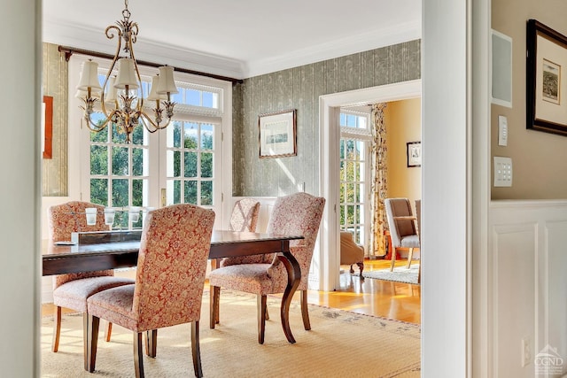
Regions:
[[[491, 1], [478, 0], [472, 9], [472, 53], [470, 70], [474, 76], [470, 89], [472, 98], [472, 130], [470, 206], [468, 223], [470, 251], [467, 256], [467, 374], [475, 377], [493, 376], [493, 322], [489, 318], [493, 303], [489, 251], [491, 218], [490, 197], [490, 97], [492, 64], [490, 60]], [[473, 169], [474, 167], [474, 169]], [[473, 289], [474, 288], [474, 289]]]

